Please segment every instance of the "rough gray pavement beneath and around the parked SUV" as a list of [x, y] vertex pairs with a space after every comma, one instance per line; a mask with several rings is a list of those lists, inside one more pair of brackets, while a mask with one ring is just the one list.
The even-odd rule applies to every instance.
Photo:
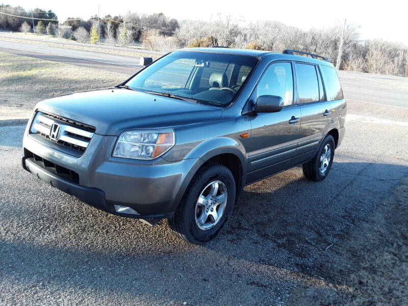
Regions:
[[[203, 246], [164, 221], [112, 216], [36, 180], [20, 166], [24, 127], [0, 127], [0, 304], [330, 305], [352, 295], [368, 304], [337, 271], [354, 271], [344, 250], [408, 176], [408, 111], [348, 108], [325, 181], [305, 181], [297, 167], [245, 187]], [[406, 257], [397, 263], [389, 269]]]

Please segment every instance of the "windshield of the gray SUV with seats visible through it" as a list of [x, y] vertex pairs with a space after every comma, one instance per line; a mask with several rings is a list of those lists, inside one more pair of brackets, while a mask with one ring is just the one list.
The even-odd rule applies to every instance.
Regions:
[[152, 63], [126, 85], [133, 90], [224, 107], [258, 63], [251, 56], [177, 51]]

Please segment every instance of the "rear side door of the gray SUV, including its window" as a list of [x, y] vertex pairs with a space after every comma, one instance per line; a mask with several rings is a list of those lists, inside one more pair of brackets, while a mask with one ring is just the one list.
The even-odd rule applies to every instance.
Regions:
[[329, 126], [331, 105], [326, 100], [318, 65], [295, 62], [297, 103], [300, 106], [300, 138], [297, 155], [313, 156]]

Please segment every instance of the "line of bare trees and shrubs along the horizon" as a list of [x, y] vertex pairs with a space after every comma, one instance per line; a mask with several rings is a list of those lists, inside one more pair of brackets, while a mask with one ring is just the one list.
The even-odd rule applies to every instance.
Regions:
[[[31, 11], [10, 5], [0, 6], [0, 12], [31, 17]], [[41, 9], [35, 9], [33, 17], [58, 19], [51, 10]], [[218, 14], [211, 22], [179, 21], [163, 13], [146, 15], [129, 11], [119, 16], [91, 16], [88, 20], [68, 17], [60, 24], [58, 21], [34, 20], [34, 24], [37, 33], [81, 42], [96, 42], [100, 36], [107, 44], [126, 46], [140, 41], [144, 48], [161, 52], [181, 47], [216, 45], [277, 52], [295, 49], [325, 56], [336, 64], [342, 24], [302, 30], [278, 21], [263, 20], [246, 25], [242, 25], [242, 21], [222, 14]], [[30, 31], [31, 26], [30, 19], [0, 14], [1, 28], [24, 32]], [[408, 76], [406, 45], [379, 39], [361, 40], [359, 27], [355, 24], [347, 25], [343, 37], [340, 69]]]

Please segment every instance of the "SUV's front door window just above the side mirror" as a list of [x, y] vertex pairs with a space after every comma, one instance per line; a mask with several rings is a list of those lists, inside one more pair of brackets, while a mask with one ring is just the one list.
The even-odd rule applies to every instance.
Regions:
[[257, 86], [257, 98], [261, 95], [276, 95], [284, 99], [284, 105], [293, 104], [293, 76], [290, 63], [270, 65]]

